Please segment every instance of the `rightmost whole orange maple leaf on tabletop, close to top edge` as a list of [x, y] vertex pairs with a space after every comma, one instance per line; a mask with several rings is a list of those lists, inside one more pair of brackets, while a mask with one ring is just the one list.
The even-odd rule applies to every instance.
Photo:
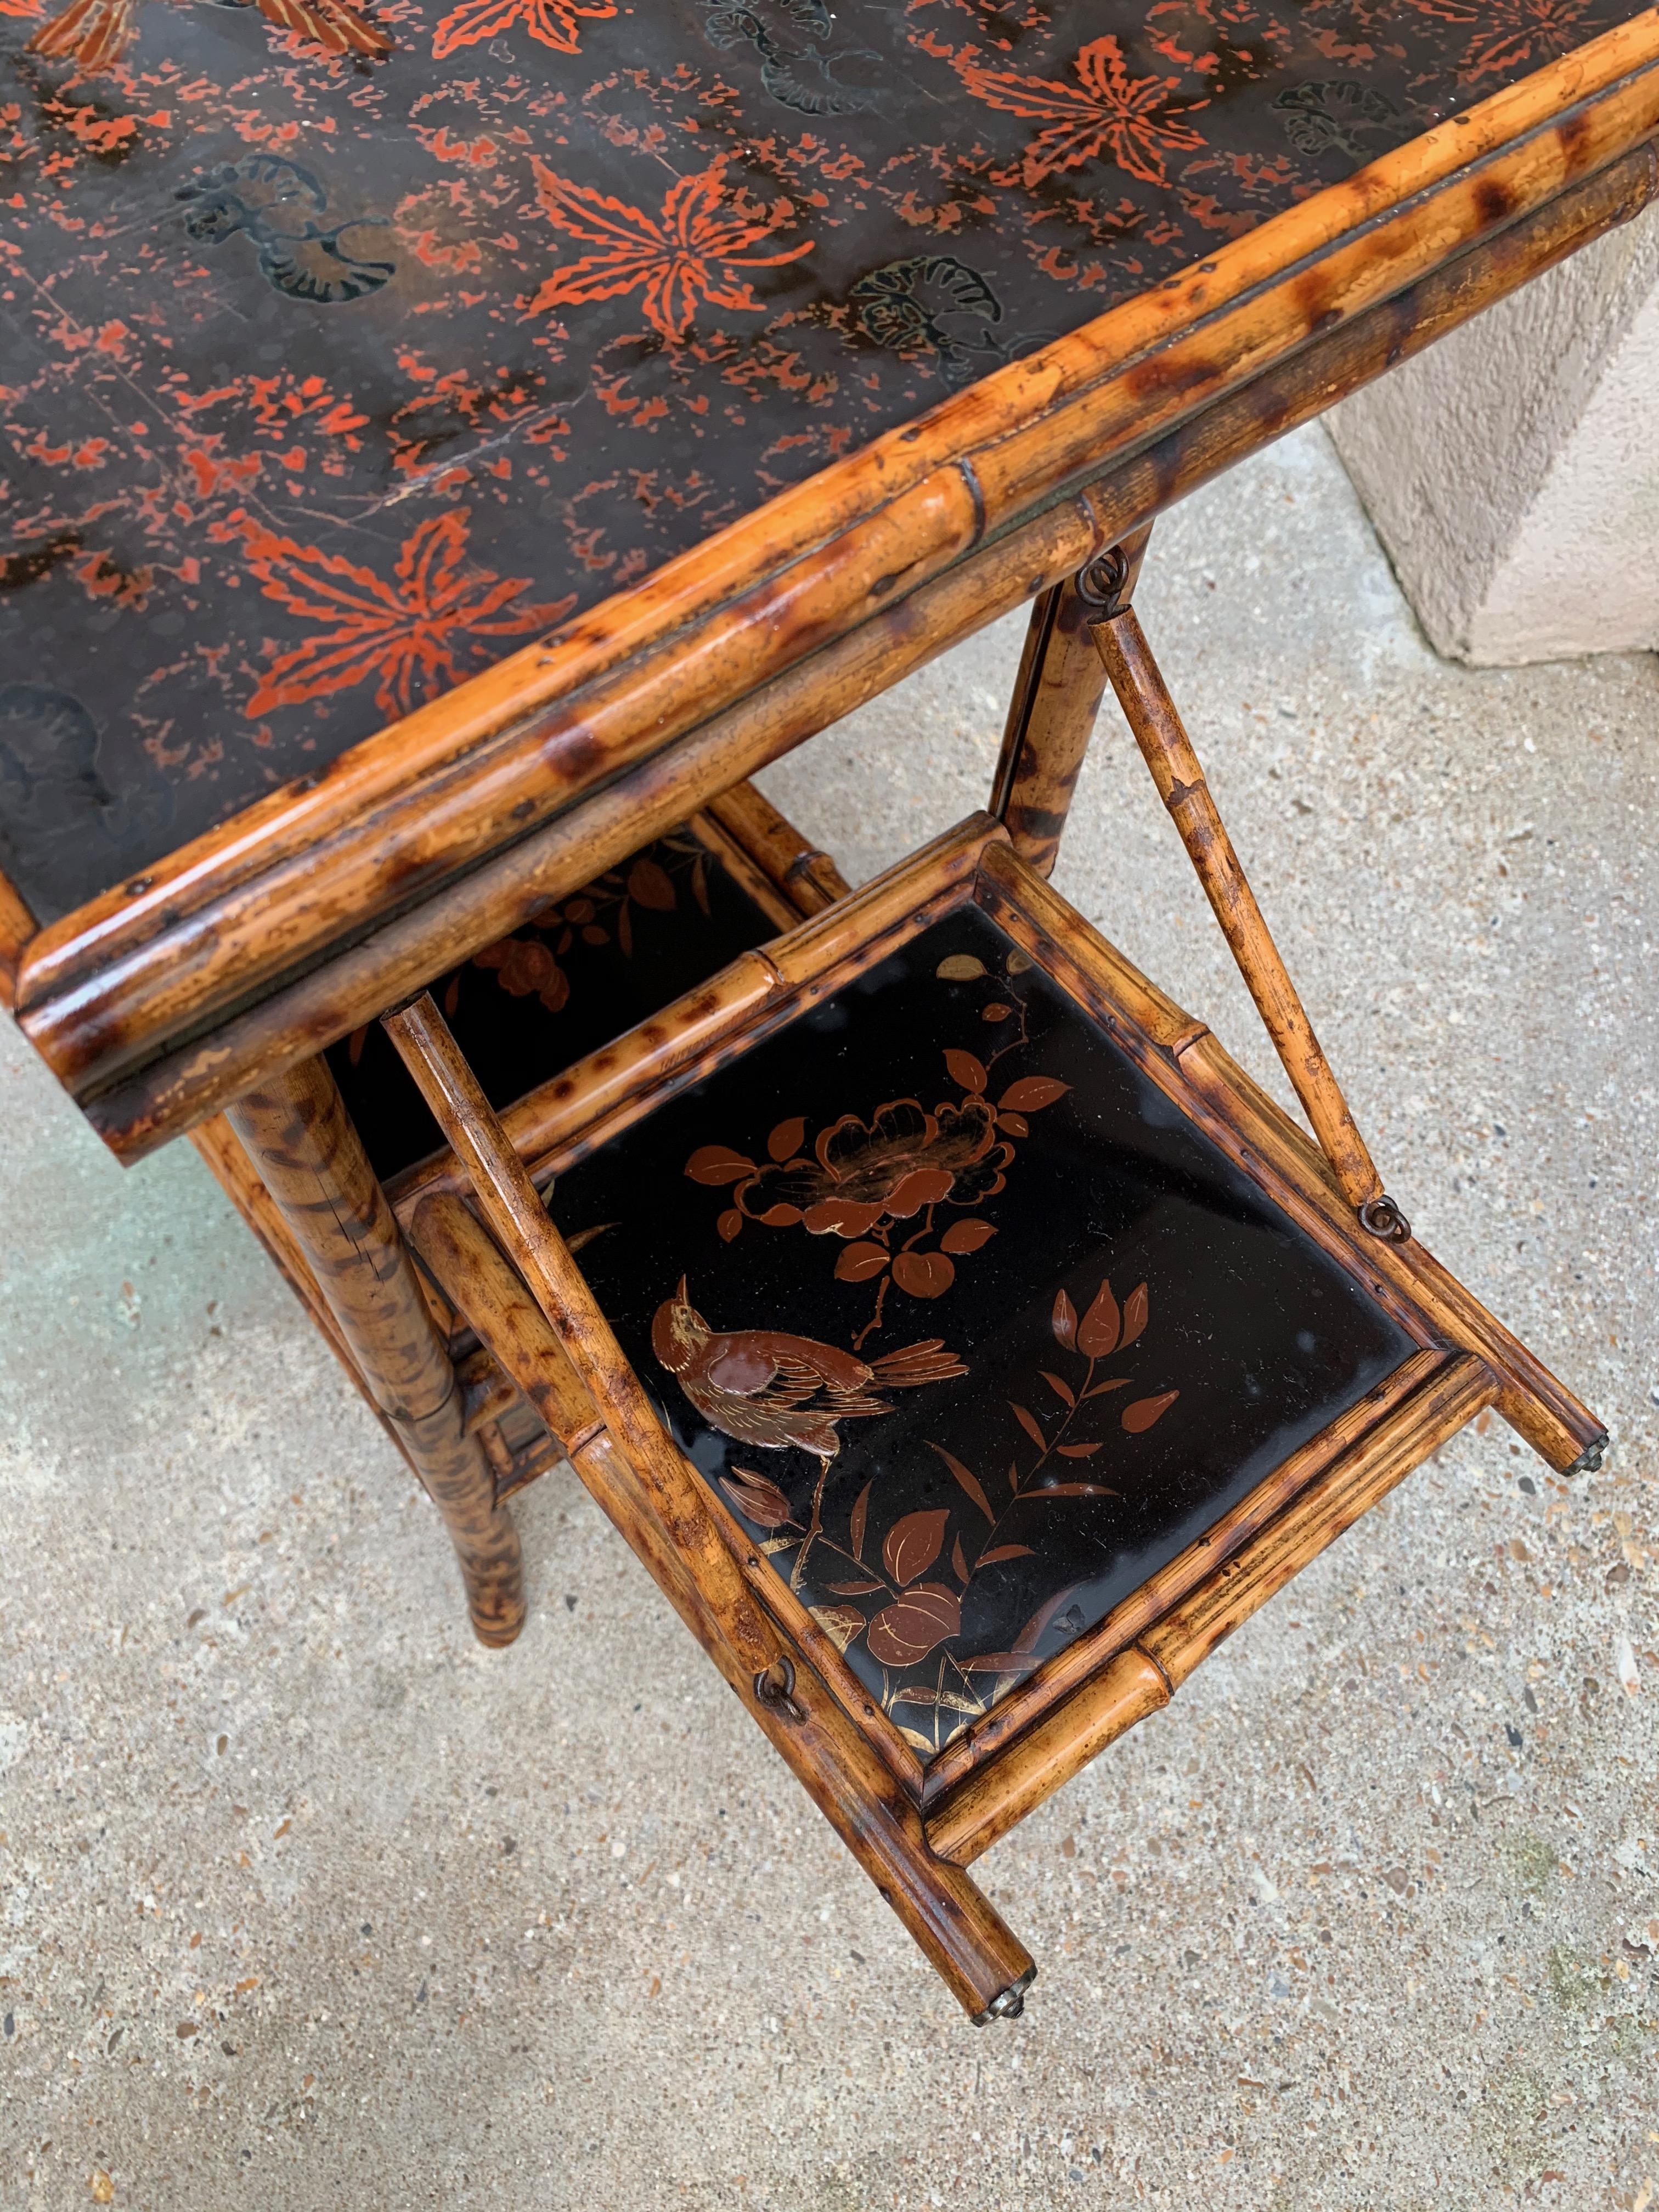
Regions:
[[1022, 179], [1042, 184], [1060, 168], [1082, 168], [1099, 155], [1110, 155], [1119, 168], [1144, 184], [1168, 184], [1166, 153], [1194, 153], [1203, 135], [1181, 115], [1208, 106], [1194, 100], [1170, 113], [1168, 95], [1179, 77], [1130, 77], [1124, 49], [1115, 38], [1097, 38], [1071, 64], [1077, 86], [1051, 77], [1024, 77], [1018, 71], [980, 69], [958, 62], [958, 75], [975, 100], [1006, 115], [1046, 122], [1048, 128], [1026, 146]]

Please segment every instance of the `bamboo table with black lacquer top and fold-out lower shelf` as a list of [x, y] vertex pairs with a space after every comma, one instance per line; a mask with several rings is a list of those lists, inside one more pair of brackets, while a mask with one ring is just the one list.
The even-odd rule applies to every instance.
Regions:
[[[1659, 13], [18, 0], [4, 38], [20, 1026], [117, 1157], [197, 1141], [484, 1641], [524, 1615], [504, 1500], [568, 1455], [967, 2011], [1018, 2011], [978, 1851], [1484, 1405], [1599, 1451], [1387, 1197], [1130, 602], [1164, 507], [1650, 201]], [[845, 896], [745, 779], [1026, 599], [989, 814]], [[1108, 684], [1316, 1146], [1046, 887]], [[1044, 1040], [1071, 1073], [1000, 1088]], [[818, 1119], [754, 1124], [814, 1053]], [[1152, 1358], [1141, 1217], [1064, 1265], [1020, 1230], [1108, 1155], [1197, 1208], [1159, 1279], [1194, 1310], [1248, 1263], [1285, 1329], [1343, 1316], [1329, 1374], [1307, 1329], [1228, 1354], [1301, 1425], [1177, 1449], [1201, 1387], [1148, 1369], [1133, 1544], [1062, 1436]], [[644, 1192], [661, 1252], [599, 1219]], [[790, 1274], [818, 1239], [856, 1325]], [[794, 1332], [734, 1312], [739, 1256]], [[980, 1265], [1042, 1294], [1048, 1416]], [[940, 1334], [883, 1338], [889, 1296]], [[1048, 1469], [1015, 1438], [1002, 1506], [991, 1367]], [[991, 1542], [1022, 1498], [1073, 1533]]]

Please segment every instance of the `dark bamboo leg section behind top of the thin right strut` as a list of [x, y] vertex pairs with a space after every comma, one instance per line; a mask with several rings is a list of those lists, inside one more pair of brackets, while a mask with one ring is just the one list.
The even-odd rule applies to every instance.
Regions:
[[[1088, 575], [1115, 577], [1128, 604], [1150, 535], [1148, 522], [1121, 546], [1102, 553]], [[1033, 602], [991, 785], [991, 812], [1006, 823], [1013, 849], [1040, 876], [1051, 876], [1060, 856], [1071, 796], [1106, 692], [1088, 628], [1099, 608], [1077, 586], [1077, 577], [1066, 577]]]

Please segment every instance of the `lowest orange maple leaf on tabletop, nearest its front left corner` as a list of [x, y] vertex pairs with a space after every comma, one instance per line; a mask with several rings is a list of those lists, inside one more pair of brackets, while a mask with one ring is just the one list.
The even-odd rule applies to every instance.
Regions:
[[383, 714], [407, 714], [418, 692], [458, 684], [467, 672], [462, 639], [522, 637], [568, 615], [575, 595], [555, 606], [513, 606], [531, 588], [526, 575], [498, 577], [467, 564], [467, 511], [429, 515], [403, 542], [396, 582], [341, 553], [296, 546], [250, 515], [232, 515], [248, 566], [276, 599], [305, 622], [323, 624], [292, 653], [281, 653], [248, 701], [248, 714], [303, 706], [378, 677]]

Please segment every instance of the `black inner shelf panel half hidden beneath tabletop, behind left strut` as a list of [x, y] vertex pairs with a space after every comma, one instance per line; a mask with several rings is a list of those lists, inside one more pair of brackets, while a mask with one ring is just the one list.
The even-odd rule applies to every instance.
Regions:
[[[440, 975], [431, 995], [500, 1108], [776, 933], [719, 858], [677, 830]], [[442, 1144], [378, 1022], [330, 1046], [325, 1060], [376, 1175], [392, 1177]]]

